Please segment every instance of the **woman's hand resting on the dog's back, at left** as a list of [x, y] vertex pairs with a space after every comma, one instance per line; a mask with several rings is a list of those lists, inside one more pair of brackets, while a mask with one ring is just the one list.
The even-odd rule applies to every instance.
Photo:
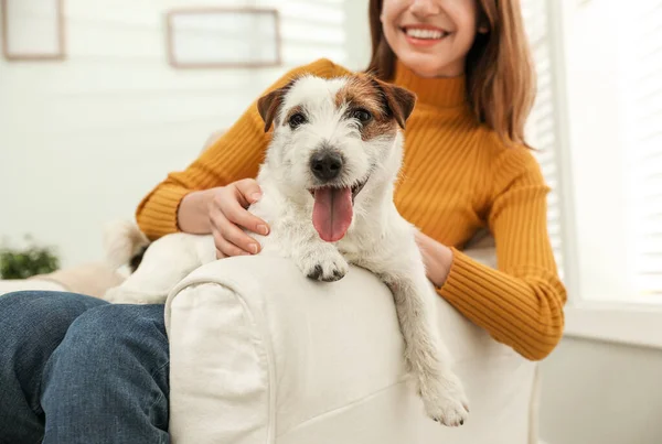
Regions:
[[253, 178], [244, 178], [229, 185], [213, 188], [209, 203], [209, 220], [216, 245], [216, 257], [256, 255], [260, 245], [242, 228], [260, 235], [269, 234], [269, 226], [246, 208], [261, 197], [261, 191]]

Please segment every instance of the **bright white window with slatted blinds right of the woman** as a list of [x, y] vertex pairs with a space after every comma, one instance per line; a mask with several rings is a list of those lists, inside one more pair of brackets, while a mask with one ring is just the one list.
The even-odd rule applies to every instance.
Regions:
[[662, 0], [521, 3], [538, 80], [527, 136], [570, 296], [662, 301]]

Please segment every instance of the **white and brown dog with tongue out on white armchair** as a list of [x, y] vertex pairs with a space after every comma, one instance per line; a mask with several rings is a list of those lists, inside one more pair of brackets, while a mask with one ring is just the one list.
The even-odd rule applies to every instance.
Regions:
[[[263, 196], [248, 209], [271, 232], [250, 235], [260, 242], [260, 255], [290, 258], [309, 279], [338, 281], [352, 263], [388, 285], [407, 368], [427, 414], [457, 426], [468, 416], [467, 397], [436, 333], [437, 295], [426, 278], [416, 228], [393, 202], [403, 130], [415, 102], [407, 89], [362, 73], [330, 79], [301, 75], [260, 97], [265, 132], [271, 126], [274, 132], [257, 175]], [[125, 241], [125, 250], [135, 252], [147, 243], [125, 227], [110, 245], [121, 245], [127, 236], [134, 241]], [[164, 236], [106, 299], [162, 303], [181, 279], [213, 260], [211, 235]]]

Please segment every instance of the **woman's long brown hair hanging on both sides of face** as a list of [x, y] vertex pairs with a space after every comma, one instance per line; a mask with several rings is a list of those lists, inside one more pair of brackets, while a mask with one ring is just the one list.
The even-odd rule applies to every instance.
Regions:
[[[383, 0], [370, 0], [372, 57], [367, 72], [392, 80], [396, 56], [382, 31]], [[524, 33], [519, 0], [478, 0], [479, 22], [488, 33], [477, 33], [467, 55], [467, 99], [479, 122], [504, 141], [522, 143], [524, 123], [535, 98], [535, 72]]]

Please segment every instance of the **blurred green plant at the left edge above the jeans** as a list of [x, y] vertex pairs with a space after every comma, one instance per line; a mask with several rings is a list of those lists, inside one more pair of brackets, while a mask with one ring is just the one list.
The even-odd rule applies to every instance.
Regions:
[[36, 246], [30, 236], [25, 236], [25, 241], [28, 246], [22, 249], [0, 248], [0, 278], [26, 279], [60, 268], [60, 258], [54, 248]]

